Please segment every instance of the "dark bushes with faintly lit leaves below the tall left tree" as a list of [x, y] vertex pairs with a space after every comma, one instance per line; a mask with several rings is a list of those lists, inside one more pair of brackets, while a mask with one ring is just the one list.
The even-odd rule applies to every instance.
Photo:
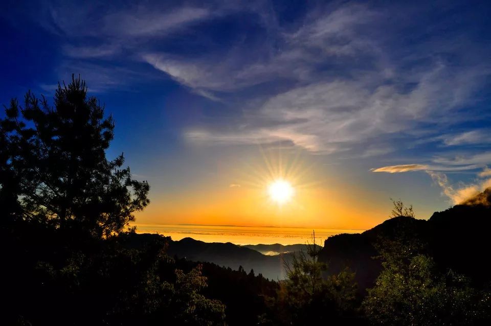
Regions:
[[[122, 238], [103, 241], [91, 255], [76, 253], [60, 268], [40, 262], [32, 301], [24, 302], [35, 308], [21, 315], [35, 324], [224, 324], [225, 306], [199, 293], [207, 286], [201, 267], [176, 269], [164, 250], [164, 239], [136, 249]], [[53, 306], [60, 310], [46, 319]]]

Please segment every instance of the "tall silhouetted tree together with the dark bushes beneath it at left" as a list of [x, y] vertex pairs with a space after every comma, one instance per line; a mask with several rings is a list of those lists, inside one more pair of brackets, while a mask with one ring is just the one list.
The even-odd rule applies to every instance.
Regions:
[[12, 100], [0, 131], [5, 324], [224, 324], [200, 267], [176, 269], [163, 237], [130, 243], [149, 185], [106, 158], [114, 121], [80, 78], [53, 108]]

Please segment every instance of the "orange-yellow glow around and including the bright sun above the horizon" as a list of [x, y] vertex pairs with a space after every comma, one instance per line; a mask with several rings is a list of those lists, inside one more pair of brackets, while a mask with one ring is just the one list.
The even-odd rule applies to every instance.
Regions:
[[362, 189], [342, 187], [332, 178], [326, 187], [322, 167], [307, 166], [299, 153], [286, 158], [261, 153], [262, 160], [226, 166], [216, 178], [199, 180], [191, 189], [155, 197], [151, 193], [150, 205], [137, 215], [137, 228], [194, 224], [363, 230], [387, 215]]

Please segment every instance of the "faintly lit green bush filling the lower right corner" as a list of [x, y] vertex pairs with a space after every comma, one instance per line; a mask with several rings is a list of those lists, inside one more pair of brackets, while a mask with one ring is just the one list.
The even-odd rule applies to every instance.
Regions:
[[455, 325], [489, 317], [489, 293], [473, 289], [461, 274], [442, 274], [431, 257], [418, 252], [421, 245], [399, 238], [378, 248], [384, 269], [363, 301], [372, 323]]

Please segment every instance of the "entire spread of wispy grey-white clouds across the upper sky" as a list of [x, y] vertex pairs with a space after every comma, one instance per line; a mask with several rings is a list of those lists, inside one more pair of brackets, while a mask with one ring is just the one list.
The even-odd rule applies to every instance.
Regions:
[[[124, 7], [52, 3], [42, 6], [39, 20], [60, 36], [63, 53], [71, 58], [61, 61], [60, 78], [87, 74], [99, 92], [139, 83], [139, 74], [114, 64], [121, 62], [168, 76], [214, 101], [217, 110], [227, 110], [219, 123], [207, 117], [185, 126], [183, 134], [192, 141], [287, 142], [313, 154], [343, 151], [360, 158], [397, 155], [409, 142], [434, 145], [430, 139], [446, 146], [487, 144], [487, 130], [462, 125], [485, 119], [475, 104], [491, 73], [479, 56], [489, 52], [467, 37], [468, 31], [459, 35], [449, 29], [429, 38], [433, 22], [427, 29], [398, 19], [406, 18], [401, 7], [420, 20], [429, 17], [425, 6], [307, 4], [286, 22], [270, 4], [191, 0]], [[217, 40], [210, 33], [221, 24], [231, 28]], [[399, 37], [407, 31], [410, 42]], [[473, 160], [463, 146], [459, 151], [467, 154], [465, 160], [437, 157], [430, 163], [424, 155], [442, 153], [428, 150], [418, 152], [419, 162], [428, 162], [432, 171], [489, 162], [488, 157]]]

